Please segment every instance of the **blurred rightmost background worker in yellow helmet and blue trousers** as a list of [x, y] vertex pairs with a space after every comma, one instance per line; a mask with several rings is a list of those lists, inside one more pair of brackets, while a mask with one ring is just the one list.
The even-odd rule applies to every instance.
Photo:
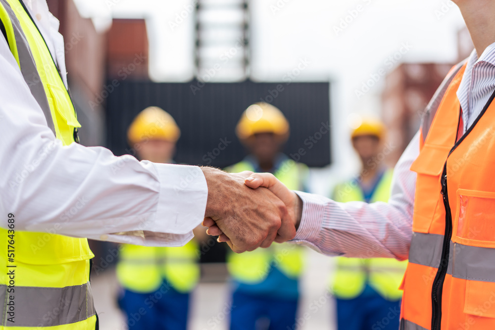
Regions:
[[[352, 146], [361, 160], [360, 176], [337, 185], [337, 202], [387, 202], [392, 169], [381, 164], [385, 128], [376, 120], [365, 120], [351, 134]], [[338, 257], [330, 290], [336, 297], [339, 330], [396, 330], [399, 316], [388, 319], [390, 310], [400, 310], [398, 289], [407, 262], [391, 258], [358, 259]], [[385, 323], [378, 322], [387, 319]], [[375, 328], [373, 328], [375, 326]]]

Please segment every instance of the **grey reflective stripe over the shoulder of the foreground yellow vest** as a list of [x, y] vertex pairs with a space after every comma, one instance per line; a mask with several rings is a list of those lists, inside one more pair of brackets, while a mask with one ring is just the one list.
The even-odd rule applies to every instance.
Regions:
[[7, 1], [0, 0], [0, 4], [3, 5], [8, 13], [8, 16], [10, 17], [10, 21], [12, 22], [22, 76], [24, 77], [26, 84], [29, 86], [31, 94], [33, 94], [34, 98], [43, 110], [45, 118], [47, 119], [48, 127], [53, 134], [55, 134], [55, 126], [51, 117], [50, 105], [48, 103], [45, 87], [43, 86], [40, 74], [36, 68], [36, 62], [31, 52], [31, 48], [29, 47], [29, 43], [24, 35], [24, 32], [22, 32], [21, 24]]

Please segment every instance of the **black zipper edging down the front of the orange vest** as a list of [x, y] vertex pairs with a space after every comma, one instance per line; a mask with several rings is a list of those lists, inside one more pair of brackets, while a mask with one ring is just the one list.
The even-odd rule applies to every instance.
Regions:
[[[468, 130], [462, 135], [462, 137], [454, 143], [454, 146], [450, 149], [447, 155], [447, 159], [450, 154], [457, 148], [457, 146], [464, 141], [464, 139], [468, 136], [469, 133], [474, 129], [476, 124], [480, 121], [481, 117], [485, 114], [490, 104], [495, 98], [495, 90], [488, 99], [487, 103], [483, 107], [483, 110], [480, 112], [476, 120], [473, 124], [468, 128]], [[460, 111], [459, 111], [460, 112]], [[459, 115], [460, 122], [460, 115]], [[457, 124], [456, 138], [457, 132], [459, 129], [459, 123]], [[442, 325], [442, 291], [444, 288], [445, 276], [447, 273], [448, 260], [450, 254], [450, 239], [452, 238], [452, 214], [450, 212], [450, 205], [448, 203], [448, 193], [447, 193], [447, 159], [444, 164], [444, 171], [442, 172], [442, 196], [444, 199], [444, 207], [445, 207], [445, 233], [444, 233], [444, 242], [442, 244], [442, 256], [440, 258], [440, 265], [437, 270], [437, 275], [435, 276], [435, 280], [433, 281], [432, 287], [432, 330], [441, 330]]]

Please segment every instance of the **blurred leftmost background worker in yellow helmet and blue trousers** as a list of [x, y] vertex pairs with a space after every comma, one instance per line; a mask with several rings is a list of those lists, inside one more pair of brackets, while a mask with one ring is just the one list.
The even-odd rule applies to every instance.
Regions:
[[[127, 131], [137, 158], [155, 163], [173, 163], [179, 136], [172, 116], [155, 106], [141, 111]], [[196, 239], [181, 247], [121, 246], [117, 278], [124, 292], [119, 305], [130, 330], [187, 329], [190, 292], [199, 279], [198, 256]]]

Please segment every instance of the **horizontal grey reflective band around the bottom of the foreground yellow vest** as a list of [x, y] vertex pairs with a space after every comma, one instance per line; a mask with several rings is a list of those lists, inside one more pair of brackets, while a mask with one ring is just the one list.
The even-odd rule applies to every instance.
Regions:
[[[96, 314], [90, 283], [60, 288], [15, 286], [13, 289], [7, 292], [7, 286], [0, 285], [2, 326], [60, 326], [84, 321]], [[12, 316], [9, 311], [13, 313], [14, 323], [8, 321]]]

